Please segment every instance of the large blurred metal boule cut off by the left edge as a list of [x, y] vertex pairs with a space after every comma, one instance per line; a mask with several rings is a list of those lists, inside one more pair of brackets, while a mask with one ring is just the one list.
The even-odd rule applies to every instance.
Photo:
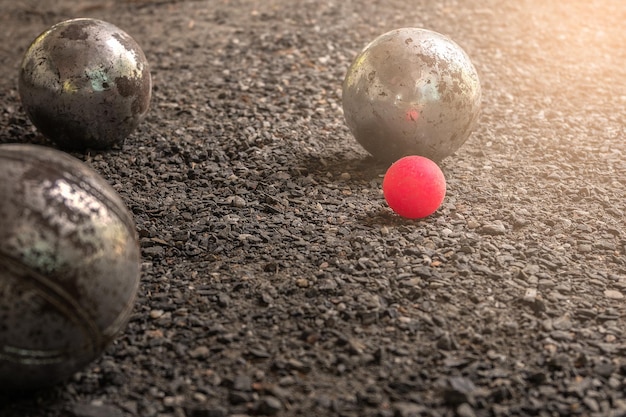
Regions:
[[0, 389], [59, 382], [125, 326], [140, 276], [133, 218], [52, 148], [0, 145]]

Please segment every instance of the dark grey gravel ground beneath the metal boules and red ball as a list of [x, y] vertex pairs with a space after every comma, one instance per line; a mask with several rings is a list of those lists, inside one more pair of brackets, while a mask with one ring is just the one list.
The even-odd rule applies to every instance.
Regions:
[[[142, 285], [98, 361], [0, 415], [626, 415], [622, 0], [0, 0], [0, 142], [46, 143], [19, 61], [78, 16], [152, 64], [145, 122], [75, 154], [134, 213]], [[404, 26], [455, 39], [484, 93], [421, 221], [341, 111]]]

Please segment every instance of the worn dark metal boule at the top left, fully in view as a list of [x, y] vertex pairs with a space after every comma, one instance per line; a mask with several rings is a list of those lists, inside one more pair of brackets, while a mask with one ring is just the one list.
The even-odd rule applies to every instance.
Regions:
[[65, 149], [120, 144], [148, 111], [152, 80], [137, 43], [95, 19], [58, 23], [30, 45], [19, 72], [24, 110]]

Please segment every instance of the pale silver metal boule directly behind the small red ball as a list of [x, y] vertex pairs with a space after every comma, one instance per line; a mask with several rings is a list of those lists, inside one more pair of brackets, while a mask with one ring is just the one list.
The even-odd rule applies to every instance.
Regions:
[[355, 58], [342, 99], [348, 127], [374, 157], [440, 161], [472, 132], [481, 87], [456, 43], [429, 30], [403, 28], [376, 38]]

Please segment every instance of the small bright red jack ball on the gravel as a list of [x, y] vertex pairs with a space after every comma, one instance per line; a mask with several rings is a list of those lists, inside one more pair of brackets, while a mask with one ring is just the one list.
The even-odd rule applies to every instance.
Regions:
[[394, 162], [383, 179], [389, 207], [408, 219], [433, 214], [446, 195], [446, 178], [439, 166], [423, 156], [405, 156]]

